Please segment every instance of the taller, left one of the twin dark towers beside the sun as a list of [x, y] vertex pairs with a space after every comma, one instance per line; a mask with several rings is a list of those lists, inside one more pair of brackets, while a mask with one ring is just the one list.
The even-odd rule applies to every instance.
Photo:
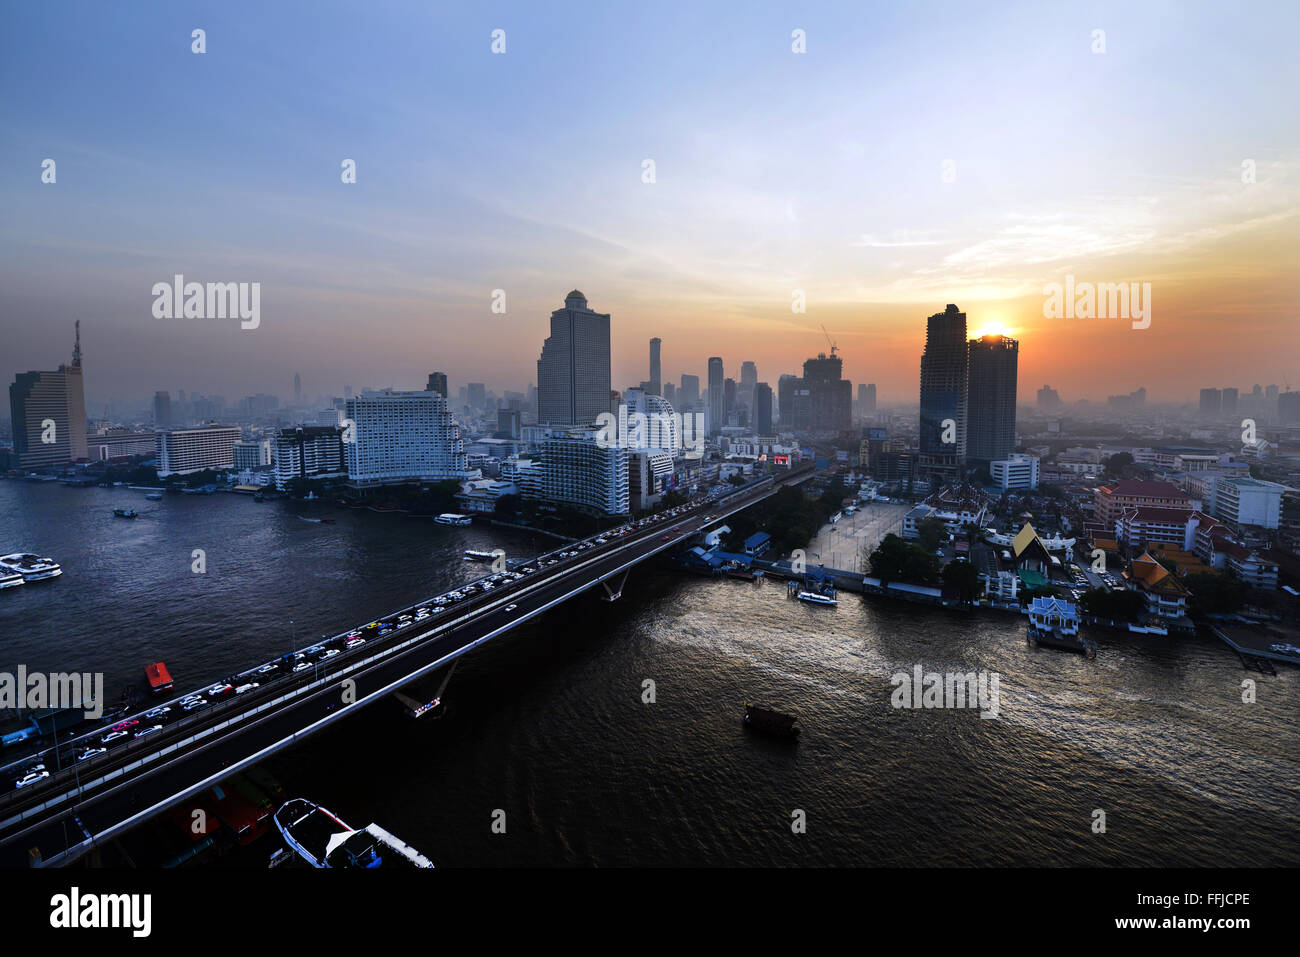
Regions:
[[919, 468], [939, 478], [961, 478], [965, 468], [968, 358], [966, 313], [949, 303], [926, 320], [920, 356]]

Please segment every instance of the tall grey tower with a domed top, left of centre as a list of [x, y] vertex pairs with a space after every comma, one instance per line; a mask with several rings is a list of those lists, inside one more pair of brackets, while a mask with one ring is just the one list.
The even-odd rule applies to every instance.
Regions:
[[593, 425], [610, 411], [610, 316], [593, 312], [576, 289], [551, 313], [537, 360], [537, 421]]

